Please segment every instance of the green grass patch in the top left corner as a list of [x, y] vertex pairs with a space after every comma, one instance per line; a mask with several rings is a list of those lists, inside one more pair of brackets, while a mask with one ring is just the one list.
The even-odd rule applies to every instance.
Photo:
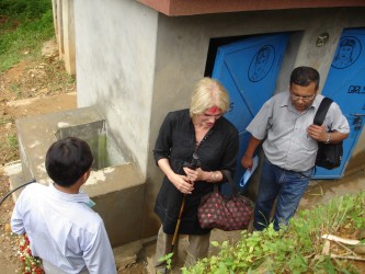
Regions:
[[18, 64], [25, 52], [38, 55], [42, 42], [55, 33], [50, 0], [1, 0], [0, 20], [0, 71]]

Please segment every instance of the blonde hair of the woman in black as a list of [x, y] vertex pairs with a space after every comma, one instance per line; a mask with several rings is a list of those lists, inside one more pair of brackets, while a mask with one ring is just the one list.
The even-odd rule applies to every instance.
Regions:
[[217, 80], [205, 77], [195, 85], [190, 116], [203, 114], [213, 106], [217, 106], [223, 114], [226, 113], [229, 107], [229, 94]]

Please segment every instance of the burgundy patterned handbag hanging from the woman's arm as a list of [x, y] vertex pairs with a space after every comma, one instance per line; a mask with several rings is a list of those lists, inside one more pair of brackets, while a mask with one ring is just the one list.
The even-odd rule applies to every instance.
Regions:
[[197, 208], [197, 217], [202, 228], [218, 228], [225, 231], [247, 229], [253, 212], [253, 203], [240, 195], [232, 182], [229, 171], [224, 171], [232, 189], [231, 195], [214, 191], [202, 197]]

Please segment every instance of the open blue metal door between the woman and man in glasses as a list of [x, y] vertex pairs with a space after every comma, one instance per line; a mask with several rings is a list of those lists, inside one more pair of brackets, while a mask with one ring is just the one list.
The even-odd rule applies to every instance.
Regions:
[[240, 160], [250, 138], [246, 127], [273, 95], [287, 42], [288, 34], [274, 34], [218, 48], [212, 77], [228, 90], [231, 103], [225, 116], [239, 132], [240, 148], [233, 179], [238, 186], [244, 172]]

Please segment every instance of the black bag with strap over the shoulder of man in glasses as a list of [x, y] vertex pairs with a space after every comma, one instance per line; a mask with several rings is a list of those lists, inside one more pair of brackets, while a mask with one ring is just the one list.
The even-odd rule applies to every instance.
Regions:
[[[316, 113], [313, 124], [321, 126], [323, 124], [328, 109], [332, 103], [332, 99], [323, 98]], [[330, 130], [329, 133], [332, 133]], [[318, 142], [318, 151], [316, 158], [316, 165], [328, 170], [339, 168], [343, 155], [342, 141], [337, 144]]]

